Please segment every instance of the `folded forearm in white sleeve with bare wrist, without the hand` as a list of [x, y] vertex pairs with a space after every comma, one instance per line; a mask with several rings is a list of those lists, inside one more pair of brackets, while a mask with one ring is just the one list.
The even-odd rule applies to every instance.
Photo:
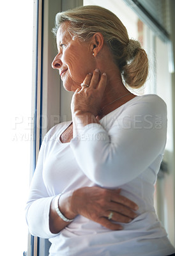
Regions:
[[[67, 192], [59, 198], [59, 211], [68, 219], [73, 219], [74, 214], [71, 207], [73, 192]], [[69, 222], [63, 221], [55, 209], [56, 196], [38, 198], [29, 202], [26, 207], [26, 220], [29, 232], [33, 236], [50, 238], [65, 228]], [[58, 202], [56, 202], [57, 204]]]

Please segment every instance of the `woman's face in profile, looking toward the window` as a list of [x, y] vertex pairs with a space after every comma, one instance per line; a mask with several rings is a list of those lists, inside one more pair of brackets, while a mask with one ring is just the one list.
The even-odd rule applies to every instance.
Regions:
[[82, 42], [68, 32], [68, 22], [61, 24], [57, 31], [58, 54], [52, 67], [59, 70], [63, 86], [75, 92], [89, 72], [93, 72], [95, 61], [91, 49], [91, 40]]

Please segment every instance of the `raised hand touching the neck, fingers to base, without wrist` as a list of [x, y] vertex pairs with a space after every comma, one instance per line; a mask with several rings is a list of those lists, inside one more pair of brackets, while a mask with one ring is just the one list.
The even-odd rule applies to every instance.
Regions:
[[84, 79], [82, 88], [78, 88], [72, 97], [72, 115], [84, 115], [89, 113], [96, 116], [100, 111], [103, 93], [107, 84], [105, 73], [100, 77], [100, 72], [96, 68], [93, 74], [88, 74]]

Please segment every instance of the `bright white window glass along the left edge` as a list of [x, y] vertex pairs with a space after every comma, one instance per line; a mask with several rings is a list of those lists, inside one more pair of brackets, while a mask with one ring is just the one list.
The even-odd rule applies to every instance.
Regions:
[[1, 255], [23, 255], [28, 229], [33, 1], [1, 1]]

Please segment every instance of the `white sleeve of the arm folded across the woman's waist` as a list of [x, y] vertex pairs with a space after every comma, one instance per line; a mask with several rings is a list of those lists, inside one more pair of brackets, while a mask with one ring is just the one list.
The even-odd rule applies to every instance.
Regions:
[[33, 236], [50, 238], [56, 236], [49, 229], [50, 203], [54, 196], [49, 196], [43, 182], [43, 158], [45, 142], [43, 141], [38, 154], [36, 170], [33, 175], [29, 190], [29, 198], [26, 205], [26, 221], [29, 232]]

